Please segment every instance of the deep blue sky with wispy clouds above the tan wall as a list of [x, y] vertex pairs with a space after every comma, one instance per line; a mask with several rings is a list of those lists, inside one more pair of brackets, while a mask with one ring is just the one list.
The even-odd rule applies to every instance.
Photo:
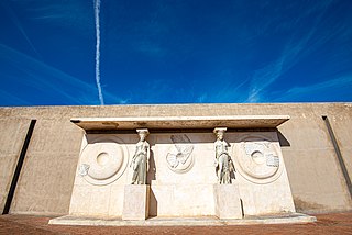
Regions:
[[350, 0], [2, 0], [0, 105], [351, 102], [351, 12]]

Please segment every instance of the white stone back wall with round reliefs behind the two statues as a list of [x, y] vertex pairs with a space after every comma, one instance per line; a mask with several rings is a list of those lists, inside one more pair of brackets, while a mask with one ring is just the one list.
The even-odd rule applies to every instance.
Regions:
[[[119, 202], [113, 205], [114, 214], [110, 212], [111, 210], [108, 210], [109, 205], [103, 205], [107, 202], [123, 198], [123, 190], [121, 189], [123, 186], [131, 183], [133, 169], [120, 167], [116, 175], [110, 176], [106, 175], [105, 168], [100, 167], [99, 163], [92, 164], [95, 159], [99, 161], [100, 152], [109, 155], [112, 153], [109, 152], [108, 147], [105, 147], [105, 145], [111, 145], [111, 139], [118, 139], [120, 143], [117, 144], [120, 147], [116, 146], [114, 149], [123, 149], [121, 153], [114, 153], [124, 157], [121, 166], [131, 163], [132, 156], [129, 153], [135, 152], [135, 143], [138, 142], [135, 134], [88, 134], [82, 142], [82, 154], [76, 172], [70, 214], [121, 216], [122, 208]], [[215, 215], [213, 183], [218, 181], [215, 167], [215, 139], [216, 136], [211, 132], [152, 133], [148, 136], [151, 159], [147, 183], [151, 184], [153, 191], [151, 215]], [[276, 133], [229, 132], [227, 133], [227, 139], [230, 144], [230, 156], [233, 156], [232, 161], [237, 169], [235, 177], [242, 193], [246, 215], [280, 213], [282, 211], [295, 212]], [[261, 142], [254, 142], [255, 139]], [[258, 147], [246, 149], [246, 143], [255, 144]], [[188, 149], [189, 146], [193, 147], [189, 156], [179, 153], [179, 150]], [[100, 150], [97, 152], [97, 149]], [[261, 157], [264, 160], [256, 155], [252, 156], [253, 153], [262, 154]], [[175, 171], [169, 166], [168, 157], [170, 154], [175, 156], [174, 161], [177, 161], [178, 165], [187, 164], [189, 160], [191, 164], [187, 170]], [[112, 155], [112, 158], [118, 158], [118, 156]], [[86, 175], [81, 175], [80, 166], [88, 163], [85, 156], [92, 159], [89, 161], [91, 168], [88, 169]], [[267, 156], [276, 156], [278, 166], [267, 166]], [[190, 161], [190, 159], [193, 160]], [[94, 174], [90, 170], [94, 170]], [[96, 174], [100, 171], [102, 177]], [[120, 177], [117, 178], [117, 176]], [[116, 190], [112, 193], [113, 188]], [[105, 194], [102, 195], [102, 193]], [[271, 197], [272, 194], [277, 194], [278, 198]], [[95, 206], [94, 210], [92, 206]]]

